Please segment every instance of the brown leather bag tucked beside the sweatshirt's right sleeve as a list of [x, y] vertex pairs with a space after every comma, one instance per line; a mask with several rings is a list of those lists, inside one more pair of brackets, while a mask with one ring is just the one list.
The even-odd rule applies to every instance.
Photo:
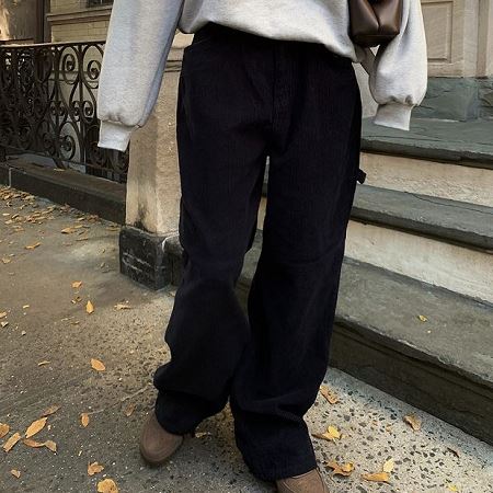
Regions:
[[402, 0], [349, 0], [351, 38], [363, 47], [387, 44], [399, 34], [401, 18]]

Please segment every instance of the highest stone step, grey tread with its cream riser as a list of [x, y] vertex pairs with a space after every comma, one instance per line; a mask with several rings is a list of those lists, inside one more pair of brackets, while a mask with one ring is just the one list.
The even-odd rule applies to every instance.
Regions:
[[363, 124], [366, 184], [493, 207], [493, 121], [412, 118], [410, 131]]

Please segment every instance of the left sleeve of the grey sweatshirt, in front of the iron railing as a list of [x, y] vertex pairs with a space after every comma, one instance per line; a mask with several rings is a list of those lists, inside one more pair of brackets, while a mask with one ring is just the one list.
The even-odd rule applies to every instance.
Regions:
[[183, 0], [115, 0], [100, 74], [99, 147], [125, 151], [152, 112]]

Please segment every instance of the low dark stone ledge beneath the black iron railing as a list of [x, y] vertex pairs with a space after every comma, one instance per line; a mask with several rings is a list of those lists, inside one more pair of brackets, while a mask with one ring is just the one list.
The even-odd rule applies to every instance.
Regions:
[[119, 183], [72, 170], [55, 171], [22, 159], [0, 162], [0, 183], [114, 222], [125, 222], [126, 187]]

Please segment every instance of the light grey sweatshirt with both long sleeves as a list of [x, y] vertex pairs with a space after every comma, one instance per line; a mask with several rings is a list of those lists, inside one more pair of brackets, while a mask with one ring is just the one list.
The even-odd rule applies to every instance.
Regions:
[[98, 93], [99, 147], [125, 150], [156, 104], [176, 28], [192, 34], [208, 21], [253, 34], [322, 43], [360, 62], [378, 103], [374, 122], [409, 130], [427, 85], [420, 0], [403, 0], [401, 33], [376, 56], [348, 36], [348, 0], [115, 0]]

